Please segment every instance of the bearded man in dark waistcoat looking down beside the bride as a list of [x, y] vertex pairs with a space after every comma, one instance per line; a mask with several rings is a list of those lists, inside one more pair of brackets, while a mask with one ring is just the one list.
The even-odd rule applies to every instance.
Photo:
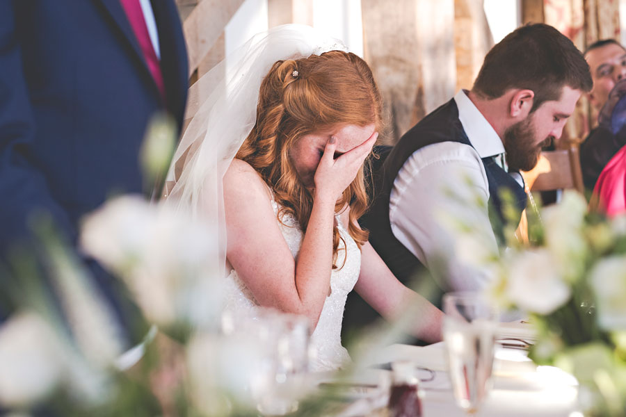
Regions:
[[[497, 253], [509, 212], [503, 195], [521, 213], [527, 194], [519, 171], [534, 167], [541, 148], [561, 136], [591, 86], [568, 38], [545, 24], [522, 26], [485, 56], [472, 90], [405, 133], [376, 172], [376, 199], [362, 219], [396, 277], [407, 283], [428, 268], [439, 291], [423, 295], [435, 304], [444, 292], [485, 286], [488, 276], [468, 258]], [[468, 228], [486, 237], [462, 248]], [[348, 300], [346, 329], [371, 320], [360, 302]]]

